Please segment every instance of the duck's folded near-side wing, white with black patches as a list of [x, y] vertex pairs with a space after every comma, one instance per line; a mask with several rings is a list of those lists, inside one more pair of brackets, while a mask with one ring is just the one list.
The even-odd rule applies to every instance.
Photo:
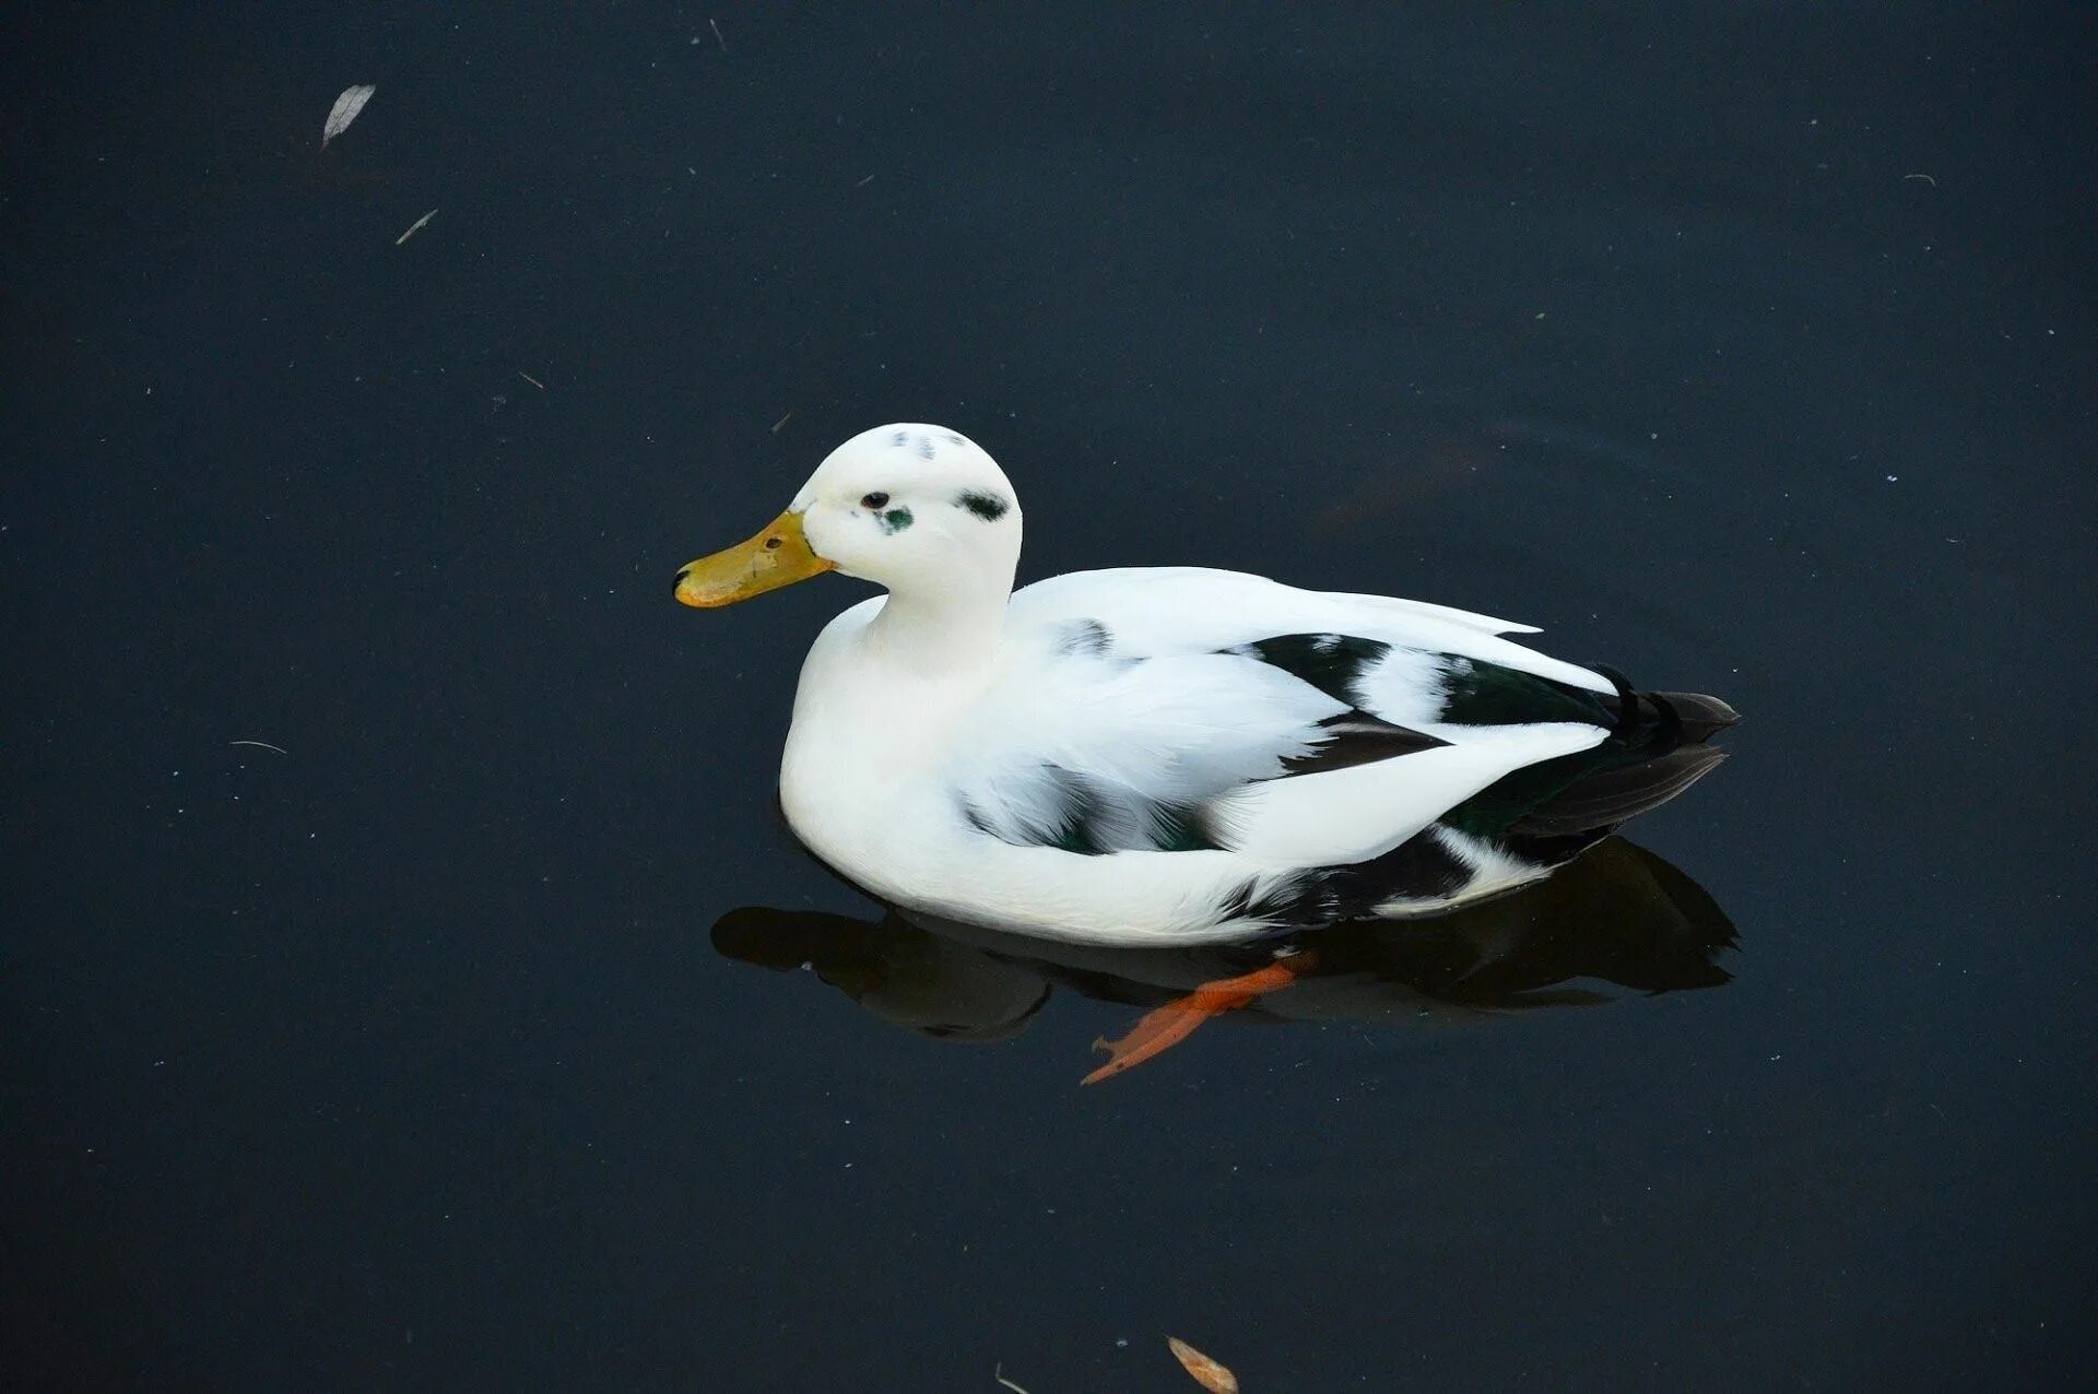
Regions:
[[946, 780], [1018, 847], [1368, 862], [1609, 734], [1615, 685], [1502, 627], [1238, 572], [1059, 576], [1013, 597], [1007, 677]]

